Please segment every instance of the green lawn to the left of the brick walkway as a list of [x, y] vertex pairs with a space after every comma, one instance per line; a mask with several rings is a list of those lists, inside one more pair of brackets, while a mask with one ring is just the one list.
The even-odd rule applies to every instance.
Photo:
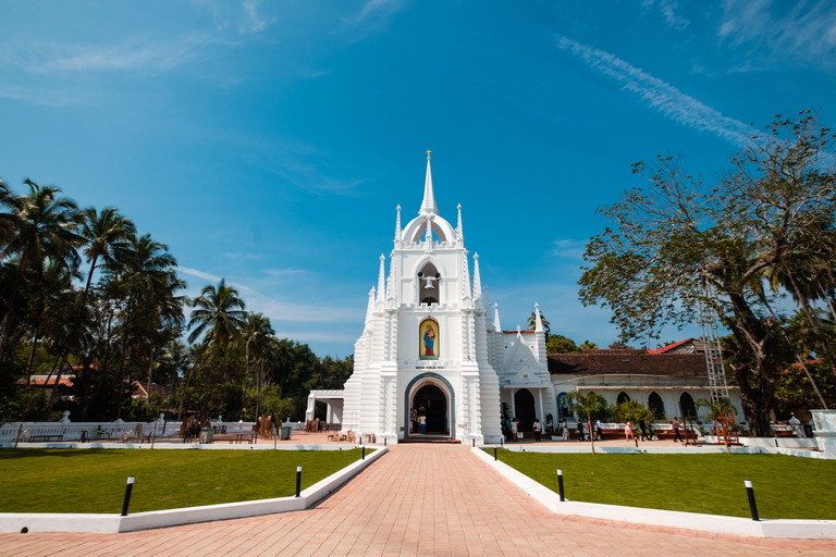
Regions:
[[284, 497], [360, 458], [349, 450], [0, 449], [0, 512], [131, 512]]

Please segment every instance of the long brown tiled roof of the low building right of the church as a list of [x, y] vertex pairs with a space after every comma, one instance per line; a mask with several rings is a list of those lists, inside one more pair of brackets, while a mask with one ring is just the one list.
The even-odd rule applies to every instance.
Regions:
[[702, 354], [650, 354], [648, 350], [581, 350], [580, 354], [550, 354], [549, 373], [577, 375], [675, 375], [703, 376]]

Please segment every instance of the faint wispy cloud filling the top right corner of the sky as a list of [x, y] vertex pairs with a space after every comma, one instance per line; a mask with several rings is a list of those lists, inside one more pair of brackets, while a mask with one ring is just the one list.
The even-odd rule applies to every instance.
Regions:
[[750, 47], [739, 71], [788, 60], [834, 69], [836, 3], [726, 0], [717, 40], [732, 48]]

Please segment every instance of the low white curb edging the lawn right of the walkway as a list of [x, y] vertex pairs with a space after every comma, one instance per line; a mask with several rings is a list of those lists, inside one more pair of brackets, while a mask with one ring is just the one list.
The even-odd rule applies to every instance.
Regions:
[[520, 490], [558, 515], [576, 515], [620, 522], [655, 524], [751, 537], [836, 540], [836, 520], [760, 520], [755, 522], [754, 520], [740, 517], [643, 509], [598, 503], [561, 502], [560, 495], [501, 460], [493, 460], [493, 456], [482, 450], [482, 448], [484, 447], [475, 447], [470, 451], [512, 483], [516, 484]]

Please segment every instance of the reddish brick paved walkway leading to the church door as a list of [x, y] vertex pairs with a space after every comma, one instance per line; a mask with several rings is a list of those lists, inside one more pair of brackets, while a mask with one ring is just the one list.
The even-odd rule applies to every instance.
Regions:
[[398, 445], [314, 508], [126, 534], [0, 534], [0, 557], [836, 555], [759, 540], [560, 518], [456, 445]]

